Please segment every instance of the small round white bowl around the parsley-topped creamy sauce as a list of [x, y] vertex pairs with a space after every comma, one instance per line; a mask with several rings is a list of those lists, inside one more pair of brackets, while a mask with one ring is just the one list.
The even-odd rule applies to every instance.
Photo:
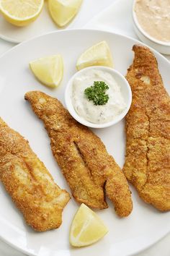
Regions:
[[[109, 72], [110, 74], [113, 75], [117, 84], [120, 85], [120, 90], [121, 90], [122, 96], [125, 100], [126, 108], [114, 120], [109, 121], [109, 122], [104, 123], [104, 124], [94, 124], [94, 123], [91, 123], [90, 121], [86, 121], [86, 119], [79, 116], [79, 114], [77, 114], [75, 109], [73, 108], [73, 103], [72, 103], [72, 100], [71, 100], [73, 80], [79, 74], [83, 74], [84, 72], [86, 72], [87, 69], [98, 69], [98, 70], [102, 70], [102, 71], [105, 71], [105, 72]], [[66, 106], [68, 108], [69, 113], [71, 114], [71, 116], [73, 116], [74, 119], [76, 119], [76, 121], [79, 121], [79, 123], [84, 124], [86, 127], [104, 128], [104, 127], [110, 127], [113, 124], [117, 124], [118, 121], [122, 120], [125, 117], [125, 115], [128, 113], [130, 105], [132, 103], [132, 91], [130, 89], [130, 85], [129, 85], [128, 81], [117, 70], [112, 69], [110, 67], [92, 66], [92, 67], [86, 67], [85, 69], [81, 69], [79, 72], [76, 72], [75, 74], [73, 74], [73, 77], [71, 77], [71, 79], [68, 81], [68, 84], [66, 86], [65, 102], [66, 102]]]

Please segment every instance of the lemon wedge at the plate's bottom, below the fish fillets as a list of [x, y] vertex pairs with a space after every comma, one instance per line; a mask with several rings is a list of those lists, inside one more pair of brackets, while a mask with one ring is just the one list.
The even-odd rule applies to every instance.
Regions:
[[83, 203], [71, 224], [70, 243], [74, 247], [94, 244], [107, 232], [108, 229], [99, 216]]

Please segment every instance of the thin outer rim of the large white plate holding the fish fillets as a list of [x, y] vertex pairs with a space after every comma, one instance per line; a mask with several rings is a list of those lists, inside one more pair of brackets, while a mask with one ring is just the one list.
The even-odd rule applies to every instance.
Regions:
[[[43, 37], [46, 37], [46, 36], [51, 35], [51, 34], [82, 32], [82, 30], [86, 30], [86, 31], [89, 31], [89, 32], [94, 32], [94, 33], [96, 33], [96, 32], [97, 33], [101, 33], [102, 32], [102, 33], [105, 33], [105, 34], [115, 35], [115, 36], [119, 36], [121, 38], [126, 38], [128, 40], [133, 40], [134, 43], [139, 43], [140, 45], [143, 45], [143, 46], [146, 46], [146, 47], [150, 48], [151, 51], [153, 51], [154, 54], [156, 54], [157, 56], [161, 57], [161, 59], [164, 59], [166, 61], [166, 63], [169, 65], [169, 67], [170, 67], [170, 61], [168, 59], [166, 59], [165, 56], [163, 56], [162, 54], [160, 54], [158, 51], [156, 51], [155, 49], [151, 48], [150, 46], [147, 46], [145, 43], [140, 42], [140, 40], [138, 40], [138, 39], [132, 38], [132, 37], [130, 37], [128, 35], [122, 35], [122, 34], [119, 34], [119, 33], [107, 31], [107, 30], [104, 30], [104, 29], [94, 29], [94, 28], [91, 29], [91, 28], [88, 28], [88, 27], [87, 28], [86, 27], [83, 27], [83, 28], [71, 28], [71, 29], [68, 29], [68, 30], [55, 30], [55, 31], [50, 31], [50, 32], [42, 34], [42, 35], [37, 35], [37, 36], [35, 36], [33, 38], [30, 38], [28, 40], [24, 40], [24, 41], [22, 41], [22, 43], [19, 43], [16, 46], [14, 46], [14, 47], [10, 48], [9, 50], [5, 51], [3, 54], [1, 54], [0, 60], [2, 58], [4, 58], [4, 56], [10, 54], [12, 51], [15, 51], [16, 48], [19, 48], [20, 46], [23, 46], [24, 44], [30, 43], [30, 41], [32, 41], [32, 40], [37, 40], [38, 38], [43, 38]], [[0, 223], [1, 223], [1, 218], [0, 218]], [[169, 229], [169, 231], [166, 231], [166, 233], [164, 235], [161, 235], [160, 237], [155, 239], [153, 242], [151, 242], [151, 244], [146, 245], [146, 247], [143, 247], [142, 249], [138, 249], [138, 251], [131, 253], [129, 256], [135, 255], [136, 253], [143, 252], [144, 250], [152, 247], [153, 244], [156, 244], [156, 242], [158, 242], [161, 239], [163, 239], [169, 233], [170, 233], [170, 229]], [[14, 242], [10, 242], [8, 239], [4, 238], [1, 235], [1, 232], [0, 232], [0, 239], [1, 239], [1, 241], [5, 242], [6, 244], [9, 244], [9, 246], [13, 247], [14, 249], [17, 249], [19, 252], [22, 252], [22, 253], [30, 255], [30, 256], [40, 256], [37, 253], [30, 252], [30, 250], [27, 249], [27, 248], [23, 249], [23, 247], [19, 247], [18, 245], [14, 244]]]

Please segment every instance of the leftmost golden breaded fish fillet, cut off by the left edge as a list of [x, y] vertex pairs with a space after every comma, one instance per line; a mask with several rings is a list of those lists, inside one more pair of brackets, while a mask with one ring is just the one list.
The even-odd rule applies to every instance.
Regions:
[[0, 179], [27, 224], [36, 231], [61, 226], [70, 196], [53, 181], [27, 140], [0, 118]]

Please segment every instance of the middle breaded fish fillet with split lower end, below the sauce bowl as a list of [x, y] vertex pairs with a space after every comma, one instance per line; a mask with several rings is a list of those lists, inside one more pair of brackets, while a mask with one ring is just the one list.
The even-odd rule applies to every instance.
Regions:
[[133, 208], [128, 182], [102, 141], [75, 121], [60, 101], [38, 91], [26, 93], [32, 109], [45, 123], [53, 155], [73, 197], [93, 208], [107, 208], [104, 192], [119, 216]]

